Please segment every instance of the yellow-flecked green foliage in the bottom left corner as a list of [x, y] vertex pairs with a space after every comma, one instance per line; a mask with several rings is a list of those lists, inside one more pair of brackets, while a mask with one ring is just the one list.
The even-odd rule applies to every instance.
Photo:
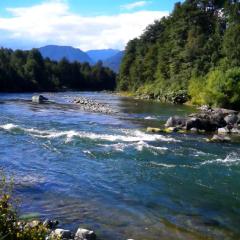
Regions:
[[28, 226], [20, 222], [16, 201], [12, 197], [13, 184], [1, 174], [0, 178], [0, 239], [44, 240], [48, 230], [43, 225]]

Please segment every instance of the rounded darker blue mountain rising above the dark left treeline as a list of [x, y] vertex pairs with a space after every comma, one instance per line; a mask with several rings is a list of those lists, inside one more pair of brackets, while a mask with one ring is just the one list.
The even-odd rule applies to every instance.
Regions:
[[50, 58], [51, 60], [60, 61], [64, 57], [70, 62], [88, 62], [93, 63], [92, 59], [83, 51], [77, 48], [68, 46], [56, 46], [49, 45], [39, 48], [40, 53], [44, 58]]

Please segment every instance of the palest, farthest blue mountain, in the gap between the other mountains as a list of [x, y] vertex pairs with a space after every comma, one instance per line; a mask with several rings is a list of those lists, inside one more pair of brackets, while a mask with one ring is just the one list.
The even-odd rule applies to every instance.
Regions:
[[86, 53], [96, 63], [99, 60], [104, 62], [105, 60], [115, 56], [119, 52], [120, 51], [116, 49], [102, 49], [102, 50], [90, 50], [87, 51]]

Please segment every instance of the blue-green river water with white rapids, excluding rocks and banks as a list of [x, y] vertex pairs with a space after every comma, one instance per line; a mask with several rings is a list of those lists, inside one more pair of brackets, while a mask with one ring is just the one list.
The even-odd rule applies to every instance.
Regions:
[[[149, 134], [194, 109], [106, 93], [0, 95], [0, 166], [21, 212], [79, 225], [100, 239], [240, 239], [240, 145], [206, 135]], [[70, 105], [107, 103], [104, 115]]]

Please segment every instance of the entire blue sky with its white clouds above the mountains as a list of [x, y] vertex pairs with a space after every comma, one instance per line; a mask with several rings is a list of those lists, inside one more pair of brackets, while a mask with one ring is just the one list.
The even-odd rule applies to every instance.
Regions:
[[0, 45], [30, 49], [48, 44], [83, 50], [118, 48], [167, 16], [174, 0], [0, 1]]

